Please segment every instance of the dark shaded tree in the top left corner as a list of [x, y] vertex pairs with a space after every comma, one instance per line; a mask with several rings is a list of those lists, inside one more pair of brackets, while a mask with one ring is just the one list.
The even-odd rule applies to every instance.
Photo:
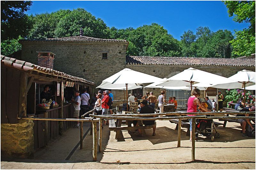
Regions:
[[1, 1], [1, 41], [26, 36], [30, 28], [28, 16], [32, 1]]

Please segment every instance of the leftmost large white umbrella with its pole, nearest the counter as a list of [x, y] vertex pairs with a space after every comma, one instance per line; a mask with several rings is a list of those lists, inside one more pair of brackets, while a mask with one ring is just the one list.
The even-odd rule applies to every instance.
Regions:
[[113, 85], [113, 87], [115, 87], [116, 84], [118, 84], [117, 86], [120, 85], [120, 86], [123, 86], [124, 88], [126, 86], [126, 99], [128, 104], [128, 84], [139, 85], [142, 83], [152, 83], [152, 82], [161, 81], [161, 80], [162, 79], [152, 75], [140, 73], [140, 72], [131, 70], [129, 68], [124, 68], [120, 72], [108, 77], [102, 82], [109, 82]]

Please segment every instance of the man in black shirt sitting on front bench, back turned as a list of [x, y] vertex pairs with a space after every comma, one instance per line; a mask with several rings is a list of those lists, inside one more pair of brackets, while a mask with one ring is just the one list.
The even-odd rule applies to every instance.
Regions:
[[[143, 100], [141, 103], [140, 103], [140, 114], [148, 114], [148, 113], [155, 113], [154, 112], [154, 109], [152, 107], [150, 107], [148, 105], [148, 101], [147, 100]], [[148, 118], [153, 118], [154, 116], [147, 116]], [[142, 124], [143, 125], [155, 125], [156, 122], [155, 120], [142, 120]], [[139, 122], [137, 122], [136, 126], [139, 126]], [[156, 133], [156, 126], [153, 127], [153, 135], [152, 136], [155, 136]], [[138, 129], [137, 131], [137, 136], [143, 136], [142, 133], [141, 133], [141, 129]]]

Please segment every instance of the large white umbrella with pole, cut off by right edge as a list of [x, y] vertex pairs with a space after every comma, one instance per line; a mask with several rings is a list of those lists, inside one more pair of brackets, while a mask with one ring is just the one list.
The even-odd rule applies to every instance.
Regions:
[[[246, 86], [253, 86], [255, 85], [255, 72], [249, 70], [242, 70], [237, 72], [236, 74], [228, 77], [228, 79], [234, 81], [231, 83], [221, 83], [212, 85], [211, 87], [220, 88], [220, 89], [245, 89]], [[244, 97], [244, 104], [245, 104], [245, 97]]]

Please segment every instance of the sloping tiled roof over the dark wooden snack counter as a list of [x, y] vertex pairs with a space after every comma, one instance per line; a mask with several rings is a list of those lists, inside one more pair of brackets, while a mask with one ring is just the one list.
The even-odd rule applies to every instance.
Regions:
[[2, 64], [5, 65], [5, 66], [11, 66], [11, 67], [14, 67], [16, 69], [20, 69], [20, 70], [24, 70], [24, 71], [28, 71], [28, 70], [34, 70], [34, 71], [37, 71], [37, 72], [40, 71], [41, 73], [43, 72], [45, 74], [51, 74], [51, 75], [54, 75], [54, 76], [68, 78], [68, 79], [73, 80], [73, 81], [81, 81], [81, 82], [84, 82], [84, 83], [87, 83], [87, 84], [90, 84], [90, 85], [94, 85], [94, 82], [85, 80], [85, 79], [80, 78], [80, 77], [75, 77], [75, 76], [72, 76], [72, 75], [69, 75], [69, 74], [66, 74], [66, 73], [63, 73], [63, 72], [53, 70], [51, 68], [37, 66], [35, 64], [29, 63], [29, 62], [26, 62], [26, 61], [21, 61], [21, 60], [15, 59], [15, 58], [5, 57], [3, 55], [1, 55], [1, 65]]

